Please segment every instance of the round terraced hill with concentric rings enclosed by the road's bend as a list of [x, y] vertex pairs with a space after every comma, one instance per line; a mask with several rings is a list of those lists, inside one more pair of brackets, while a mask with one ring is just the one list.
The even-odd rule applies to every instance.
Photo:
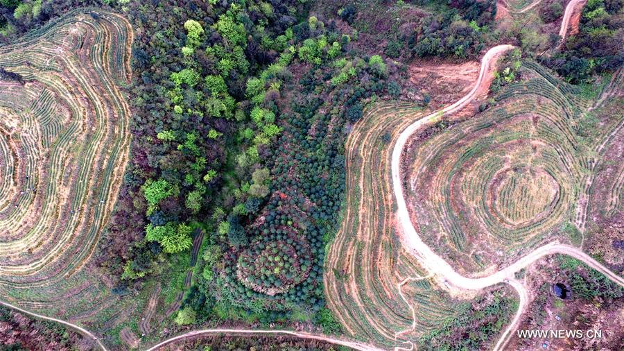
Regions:
[[541, 66], [525, 62], [521, 75], [494, 108], [416, 135], [407, 149], [413, 223], [465, 274], [506, 266], [554, 238], [580, 246], [596, 163], [621, 130], [612, 116], [597, 133], [593, 100]]

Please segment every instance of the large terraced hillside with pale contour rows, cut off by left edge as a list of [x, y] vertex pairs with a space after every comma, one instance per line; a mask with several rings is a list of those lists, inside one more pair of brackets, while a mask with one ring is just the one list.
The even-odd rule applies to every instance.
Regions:
[[73, 10], [0, 48], [0, 299], [94, 329], [125, 312], [87, 262], [128, 160], [131, 44]]

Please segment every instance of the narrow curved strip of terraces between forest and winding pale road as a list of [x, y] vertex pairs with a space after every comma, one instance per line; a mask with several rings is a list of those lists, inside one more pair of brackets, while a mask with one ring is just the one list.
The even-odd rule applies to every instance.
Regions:
[[347, 334], [384, 348], [416, 341], [454, 314], [454, 302], [395, 239], [390, 146], [423, 114], [410, 104], [388, 103], [354, 126], [345, 146], [347, 207], [327, 252], [329, 306]]

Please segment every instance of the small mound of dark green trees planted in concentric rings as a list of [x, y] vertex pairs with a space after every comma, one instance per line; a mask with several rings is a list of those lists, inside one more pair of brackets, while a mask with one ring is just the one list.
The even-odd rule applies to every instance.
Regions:
[[225, 253], [229, 298], [251, 311], [322, 308], [325, 231], [316, 224], [318, 212], [305, 196], [276, 191], [245, 228], [254, 238], [248, 248]]

